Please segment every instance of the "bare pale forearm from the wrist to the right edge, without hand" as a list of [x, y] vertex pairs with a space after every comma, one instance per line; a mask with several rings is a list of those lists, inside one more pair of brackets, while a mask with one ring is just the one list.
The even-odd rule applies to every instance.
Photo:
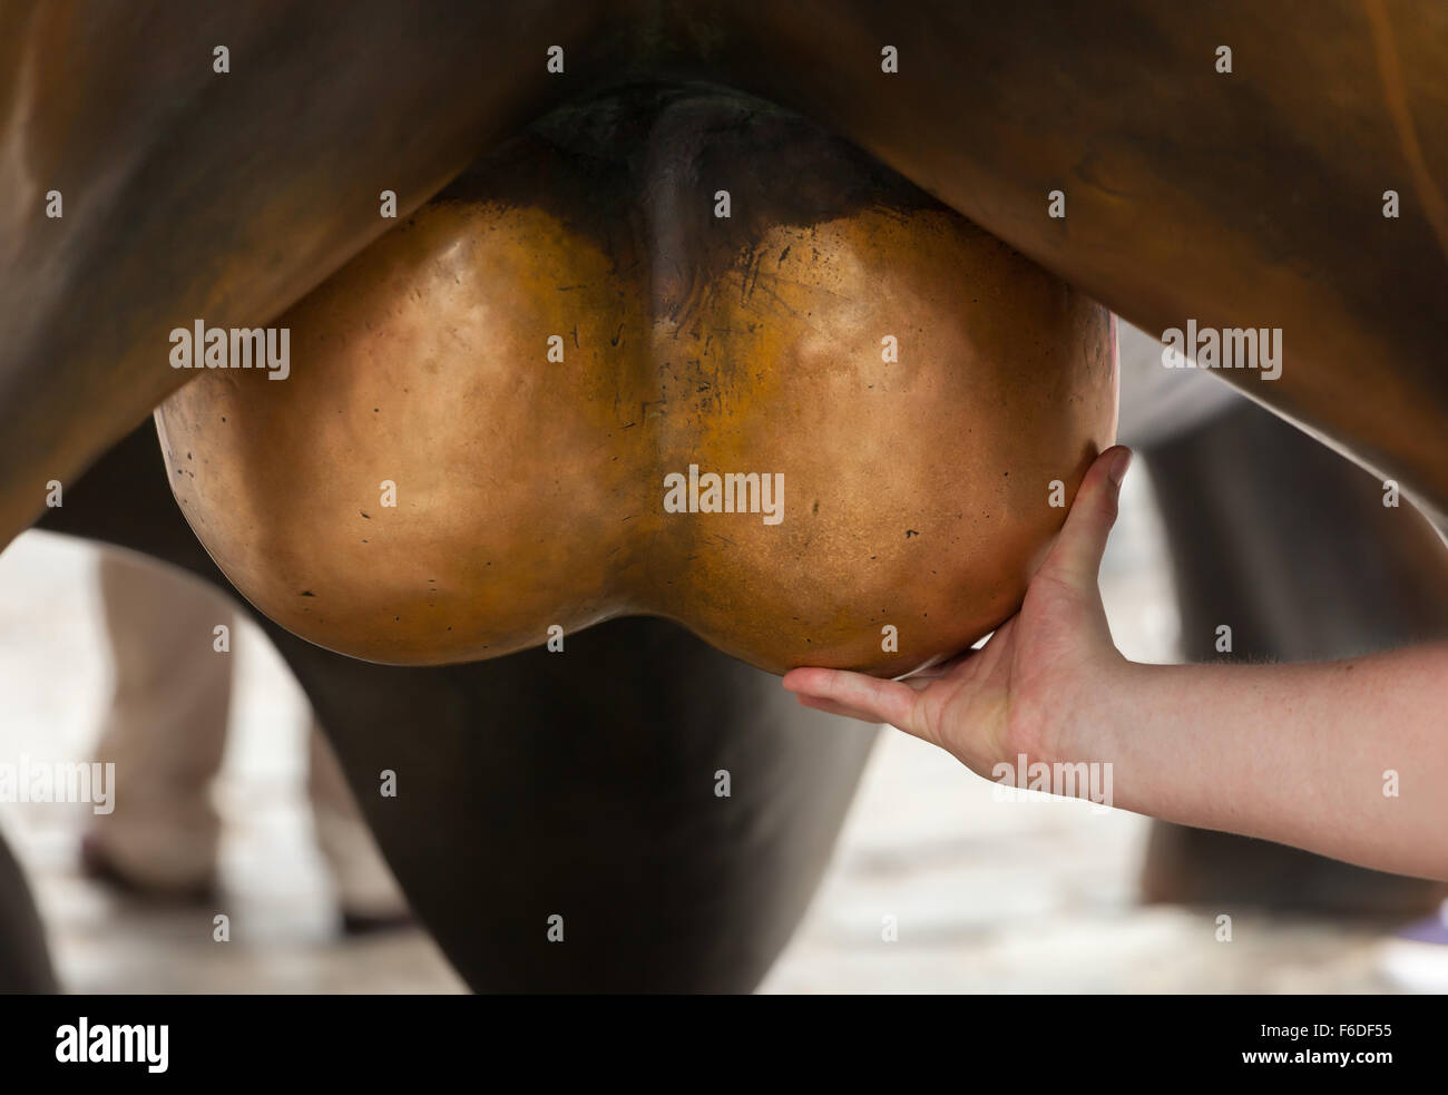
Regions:
[[1448, 879], [1448, 646], [1315, 665], [1127, 663], [1082, 721], [1115, 804]]

